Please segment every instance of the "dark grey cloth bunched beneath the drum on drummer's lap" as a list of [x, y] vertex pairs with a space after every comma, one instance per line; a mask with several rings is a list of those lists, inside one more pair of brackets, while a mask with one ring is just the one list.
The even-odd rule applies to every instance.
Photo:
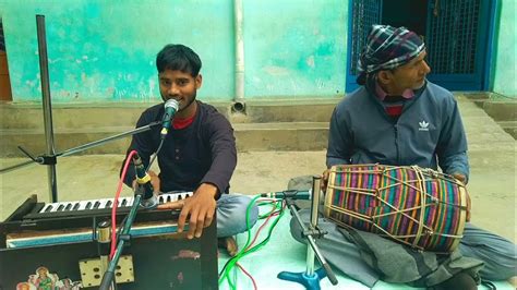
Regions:
[[459, 250], [442, 255], [414, 251], [371, 232], [338, 229], [353, 241], [363, 261], [377, 270], [384, 281], [432, 287], [465, 271], [480, 282], [478, 273], [483, 262], [462, 256]]

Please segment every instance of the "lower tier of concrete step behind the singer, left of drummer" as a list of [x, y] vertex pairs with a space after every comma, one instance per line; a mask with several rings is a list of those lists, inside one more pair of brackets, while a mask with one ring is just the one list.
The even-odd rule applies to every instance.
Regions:
[[[53, 132], [56, 152], [69, 150], [132, 129], [132, 126], [56, 129]], [[321, 150], [327, 145], [327, 122], [236, 123], [233, 129], [239, 152]], [[0, 135], [1, 156], [23, 156], [17, 148], [20, 145], [36, 156], [46, 153], [43, 129], [2, 129]], [[127, 136], [82, 154], [124, 154], [130, 142], [131, 137]]]

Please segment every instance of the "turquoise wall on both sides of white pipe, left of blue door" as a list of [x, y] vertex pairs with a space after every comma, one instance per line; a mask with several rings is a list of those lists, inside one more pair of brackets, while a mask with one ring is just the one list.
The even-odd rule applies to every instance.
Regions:
[[[244, 2], [245, 97], [342, 94], [347, 1]], [[0, 1], [14, 101], [40, 101], [36, 14], [46, 16], [52, 101], [156, 101], [169, 43], [203, 61], [200, 98], [231, 100], [231, 0]]]

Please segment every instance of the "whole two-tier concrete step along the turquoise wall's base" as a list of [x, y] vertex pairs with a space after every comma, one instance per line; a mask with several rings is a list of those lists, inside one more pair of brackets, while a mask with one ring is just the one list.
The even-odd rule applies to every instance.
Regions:
[[[480, 102], [456, 95], [470, 150], [486, 144], [504, 150], [515, 148], [515, 129], [495, 122]], [[486, 101], [482, 95], [479, 99]], [[477, 100], [477, 99], [474, 99]], [[211, 102], [232, 123], [239, 152], [321, 150], [327, 146], [328, 121], [339, 99]], [[52, 108], [56, 152], [63, 152], [134, 129], [149, 104], [59, 105]], [[238, 110], [236, 110], [238, 109]], [[46, 152], [40, 105], [0, 105], [0, 156], [22, 156], [16, 146], [40, 155]], [[505, 130], [514, 135], [508, 134]], [[130, 137], [106, 143], [83, 154], [123, 154]]]

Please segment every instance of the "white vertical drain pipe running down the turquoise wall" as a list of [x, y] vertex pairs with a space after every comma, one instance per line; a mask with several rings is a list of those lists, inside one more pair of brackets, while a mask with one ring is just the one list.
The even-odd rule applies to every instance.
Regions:
[[244, 104], [244, 34], [242, 0], [233, 0], [236, 33], [236, 94], [231, 110], [245, 113]]

